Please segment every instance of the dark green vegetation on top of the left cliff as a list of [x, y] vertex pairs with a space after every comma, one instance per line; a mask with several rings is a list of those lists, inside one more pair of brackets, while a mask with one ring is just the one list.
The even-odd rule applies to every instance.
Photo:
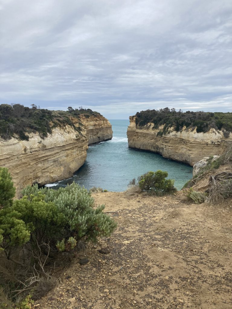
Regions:
[[[51, 111], [48, 109], [37, 108], [35, 104], [32, 108], [24, 107], [21, 104], [1, 104], [0, 105], [0, 136], [7, 140], [11, 139], [15, 134], [21, 140], [28, 140], [27, 133], [38, 132], [41, 138], [45, 138], [52, 129], [58, 126], [71, 125], [76, 131], [81, 131], [80, 115], [85, 117], [90, 115], [100, 115], [91, 109], [79, 107], [73, 109], [68, 107], [68, 111]], [[74, 125], [72, 118], [76, 118], [79, 126]]]

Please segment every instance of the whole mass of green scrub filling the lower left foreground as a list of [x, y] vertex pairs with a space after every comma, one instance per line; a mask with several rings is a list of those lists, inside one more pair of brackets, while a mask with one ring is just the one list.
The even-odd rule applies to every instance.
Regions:
[[93, 208], [91, 192], [78, 184], [28, 186], [14, 201], [12, 188], [9, 172], [0, 167], [0, 287], [15, 302], [41, 278], [50, 281], [51, 269], [67, 263], [80, 243], [109, 236], [116, 223], [104, 205]]

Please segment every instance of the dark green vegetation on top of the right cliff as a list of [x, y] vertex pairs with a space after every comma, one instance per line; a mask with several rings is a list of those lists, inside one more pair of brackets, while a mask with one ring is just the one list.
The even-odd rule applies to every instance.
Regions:
[[163, 130], [159, 135], [167, 133], [171, 127], [175, 131], [180, 131], [185, 126], [186, 128], [195, 129], [197, 133], [208, 132], [209, 129], [222, 130], [224, 137], [229, 137], [232, 132], [232, 113], [222, 112], [178, 112], [175, 108], [161, 108], [160, 110], [148, 109], [136, 113], [136, 126], [144, 126], [148, 123], [153, 123], [153, 129], [158, 129], [164, 125]]

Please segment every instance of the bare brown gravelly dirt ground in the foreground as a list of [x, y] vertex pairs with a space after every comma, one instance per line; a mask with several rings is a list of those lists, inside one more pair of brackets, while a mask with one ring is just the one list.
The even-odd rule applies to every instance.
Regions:
[[231, 309], [232, 203], [195, 205], [181, 194], [93, 194], [118, 211], [117, 230], [89, 244], [35, 308]]

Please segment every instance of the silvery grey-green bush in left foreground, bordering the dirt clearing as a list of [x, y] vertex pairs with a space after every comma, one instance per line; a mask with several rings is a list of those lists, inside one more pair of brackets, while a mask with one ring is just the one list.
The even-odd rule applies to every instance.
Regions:
[[[110, 235], [116, 227], [116, 223], [103, 213], [105, 206], [100, 205], [94, 209], [94, 199], [91, 197], [91, 193], [75, 182], [58, 190], [38, 189], [38, 185], [34, 185], [25, 188], [23, 194], [26, 194], [29, 201], [31, 194], [38, 199], [44, 196], [45, 203], [54, 205], [50, 206], [54, 207], [55, 213], [52, 214], [49, 225], [55, 226], [59, 230], [54, 239], [56, 242], [64, 238], [67, 243], [70, 237], [75, 237], [76, 240], [85, 237], [87, 240], [96, 241], [97, 237]], [[49, 218], [49, 214], [47, 218]], [[50, 231], [54, 233], [52, 226]], [[42, 229], [44, 230], [44, 227]], [[49, 237], [51, 236], [49, 235]]]

